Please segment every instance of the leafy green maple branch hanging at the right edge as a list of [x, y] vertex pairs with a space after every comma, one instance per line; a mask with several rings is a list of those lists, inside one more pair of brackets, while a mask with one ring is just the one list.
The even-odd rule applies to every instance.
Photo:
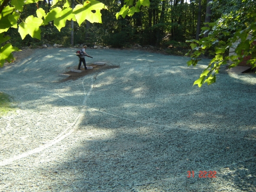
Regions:
[[201, 35], [208, 32], [207, 37], [187, 41], [191, 43], [191, 50], [186, 55], [191, 54], [192, 58], [187, 62], [188, 66], [196, 66], [205, 53], [213, 56], [194, 85], [213, 84], [220, 68], [228, 66], [230, 69], [242, 61], [250, 64], [252, 69], [256, 67], [256, 6], [253, 3], [243, 0], [241, 9], [231, 10], [217, 22], [201, 28]]

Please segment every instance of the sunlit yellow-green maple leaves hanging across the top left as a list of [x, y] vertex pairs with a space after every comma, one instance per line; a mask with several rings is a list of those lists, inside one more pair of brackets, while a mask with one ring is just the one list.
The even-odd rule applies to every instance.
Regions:
[[[88, 20], [91, 23], [102, 23], [101, 13], [102, 9], [108, 9], [107, 6], [98, 0], [85, 0], [84, 4], [77, 4], [74, 9], [71, 8], [70, 0], [52, 0], [51, 9], [46, 14], [45, 10], [38, 8], [36, 15], [29, 15], [26, 18], [21, 18], [21, 12], [24, 10], [24, 5], [30, 3], [38, 3], [39, 0], [0, 0], [0, 40], [4, 43], [4, 32], [7, 32], [10, 27], [17, 28], [22, 39], [30, 35], [33, 38], [41, 39], [40, 26], [47, 25], [53, 21], [54, 26], [61, 31], [65, 26], [67, 20], [77, 21], [79, 26]], [[58, 2], [63, 1], [64, 5], [58, 7]], [[141, 6], [149, 6], [149, 0], [137, 0], [136, 6], [134, 0], [124, 0], [125, 5], [118, 14], [125, 17], [132, 16], [134, 12], [139, 12]], [[131, 8], [129, 8], [131, 7]], [[123, 12], [123, 9], [128, 9]], [[17, 25], [19, 21], [20, 24]], [[17, 51], [18, 48], [13, 48], [6, 44], [0, 48], [0, 67], [3, 66], [5, 60], [11, 62], [13, 60], [12, 51]]]

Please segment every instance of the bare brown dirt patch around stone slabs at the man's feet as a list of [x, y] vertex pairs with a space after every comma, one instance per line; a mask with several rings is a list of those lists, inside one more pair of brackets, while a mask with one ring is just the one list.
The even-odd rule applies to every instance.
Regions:
[[[108, 69], [120, 68], [120, 66], [118, 66], [118, 65], [106, 65], [106, 64], [105, 65], [90, 64], [90, 65], [86, 65], [86, 66], [92, 66], [93, 69], [87, 69], [87, 70], [81, 69], [82, 72], [63, 72], [62, 74], [68, 74], [70, 76], [65, 79], [62, 79], [59, 82], [61, 83], [61, 82], [69, 81], [69, 80], [75, 81], [75, 80], [79, 79], [80, 77], [83, 77], [87, 74], [101, 72], [101, 71], [108, 70]], [[74, 68], [74, 69], [76, 69], [76, 68]]]

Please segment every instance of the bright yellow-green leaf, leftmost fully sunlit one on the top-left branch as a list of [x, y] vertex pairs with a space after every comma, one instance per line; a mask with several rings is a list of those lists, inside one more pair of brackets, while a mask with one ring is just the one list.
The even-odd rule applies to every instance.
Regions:
[[34, 17], [30, 15], [26, 18], [25, 23], [22, 22], [19, 24], [18, 32], [21, 35], [21, 38], [24, 39], [27, 34], [33, 38], [41, 39], [41, 29], [39, 26], [43, 23], [41, 18]]

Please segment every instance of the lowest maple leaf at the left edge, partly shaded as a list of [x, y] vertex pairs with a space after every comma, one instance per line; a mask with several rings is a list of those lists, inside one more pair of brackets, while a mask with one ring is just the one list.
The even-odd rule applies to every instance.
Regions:
[[11, 62], [14, 60], [12, 52], [19, 50], [18, 48], [12, 47], [10, 43], [0, 48], [0, 67], [3, 66], [5, 60]]

